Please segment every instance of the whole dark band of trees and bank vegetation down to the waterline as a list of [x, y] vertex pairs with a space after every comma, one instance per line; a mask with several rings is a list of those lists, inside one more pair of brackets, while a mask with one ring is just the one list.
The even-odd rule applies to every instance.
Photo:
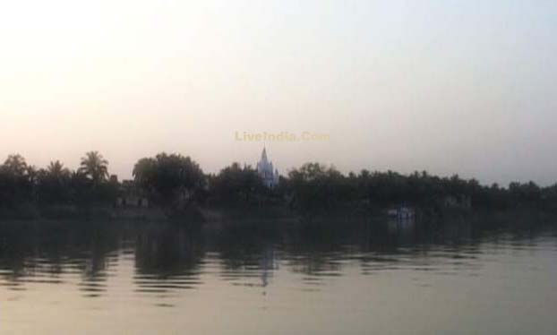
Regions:
[[185, 223], [224, 219], [386, 217], [411, 209], [413, 219], [450, 213], [557, 212], [557, 184], [480, 185], [476, 179], [402, 175], [387, 171], [344, 175], [306, 163], [263, 185], [257, 170], [233, 163], [205, 174], [190, 157], [159, 153], [139, 159], [133, 180], [108, 172], [98, 151], [87, 152], [75, 171], [52, 161], [47, 168], [10, 155], [0, 165], [0, 219], [124, 219]]

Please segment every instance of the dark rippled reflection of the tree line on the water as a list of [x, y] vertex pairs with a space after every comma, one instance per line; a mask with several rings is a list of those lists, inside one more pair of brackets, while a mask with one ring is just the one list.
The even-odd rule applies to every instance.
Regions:
[[[343, 275], [347, 263], [360, 272], [411, 268], [451, 274], [446, 265], [473, 270], [482, 244], [515, 251], [536, 247], [536, 237], [555, 236], [543, 225], [527, 229], [475, 228], [466, 222], [283, 224], [256, 222], [223, 228], [169, 224], [65, 223], [0, 225], [0, 285], [61, 285], [79, 275], [85, 296], [101, 296], [118, 276], [120, 262], [132, 261], [140, 293], [166, 293], [202, 284], [214, 272], [233, 285], [267, 287], [280, 267], [302, 274], [308, 285]], [[440, 269], [443, 269], [442, 271]]]

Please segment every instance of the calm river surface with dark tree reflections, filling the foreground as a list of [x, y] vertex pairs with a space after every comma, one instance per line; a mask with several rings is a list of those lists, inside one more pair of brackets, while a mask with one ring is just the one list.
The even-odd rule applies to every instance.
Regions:
[[546, 223], [4, 223], [0, 333], [555, 334]]

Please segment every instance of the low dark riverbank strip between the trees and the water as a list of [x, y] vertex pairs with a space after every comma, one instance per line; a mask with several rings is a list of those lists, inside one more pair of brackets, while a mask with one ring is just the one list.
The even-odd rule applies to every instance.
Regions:
[[[432, 214], [427, 210], [416, 209], [411, 221], [434, 225], [436, 222], [467, 222], [472, 225], [501, 226], [509, 222], [555, 221], [556, 213], [547, 210], [521, 208], [512, 210], [446, 210]], [[304, 224], [321, 224], [334, 221], [336, 224], [352, 221], [386, 222], [398, 221], [381, 208], [344, 207], [334, 210], [314, 210], [299, 212], [283, 205], [272, 206], [198, 206], [190, 205], [183, 210], [162, 207], [150, 208], [113, 208], [108, 206], [32, 206], [21, 205], [17, 209], [0, 209], [0, 221], [124, 221], [178, 223], [186, 226], [205, 225], [209, 227], [235, 226], [236, 223], [281, 220]], [[405, 219], [408, 221], [408, 219]]]

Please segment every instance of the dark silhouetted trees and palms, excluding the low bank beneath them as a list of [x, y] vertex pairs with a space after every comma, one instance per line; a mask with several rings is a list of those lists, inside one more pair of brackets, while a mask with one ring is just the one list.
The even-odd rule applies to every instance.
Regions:
[[[18, 208], [21, 204], [108, 206], [124, 196], [121, 186], [116, 177], [109, 175], [108, 161], [98, 151], [87, 152], [76, 170], [65, 168], [58, 160], [46, 168], [35, 168], [14, 154], [0, 165], [0, 209]], [[308, 211], [405, 204], [427, 209], [455, 206], [557, 210], [557, 185], [480, 185], [476, 179], [432, 176], [425, 171], [403, 175], [364, 169], [345, 175], [334, 167], [306, 163], [281, 176], [279, 186], [271, 190], [251, 166], [233, 163], [217, 174], [206, 174], [190, 157], [164, 152], [137, 161], [133, 187], [159, 206], [285, 204]]]

